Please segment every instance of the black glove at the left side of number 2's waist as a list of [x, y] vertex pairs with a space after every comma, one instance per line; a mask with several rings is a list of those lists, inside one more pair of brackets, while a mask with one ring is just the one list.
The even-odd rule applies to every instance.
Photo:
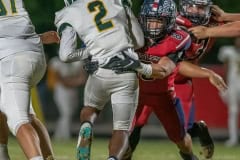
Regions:
[[92, 61], [92, 56], [83, 60], [83, 69], [88, 74], [93, 74], [98, 69], [98, 61]]

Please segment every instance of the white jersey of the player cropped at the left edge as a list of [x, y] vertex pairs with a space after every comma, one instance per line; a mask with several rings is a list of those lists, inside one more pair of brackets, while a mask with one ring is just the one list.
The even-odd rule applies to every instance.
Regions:
[[0, 58], [22, 51], [42, 52], [42, 49], [23, 0], [0, 0]]

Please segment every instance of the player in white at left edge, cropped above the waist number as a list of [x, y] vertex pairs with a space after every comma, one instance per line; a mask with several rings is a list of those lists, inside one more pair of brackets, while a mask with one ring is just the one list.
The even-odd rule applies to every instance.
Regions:
[[46, 69], [43, 46], [23, 1], [0, 3], [0, 110], [27, 159], [43, 160], [39, 136], [29, 116], [30, 88]]

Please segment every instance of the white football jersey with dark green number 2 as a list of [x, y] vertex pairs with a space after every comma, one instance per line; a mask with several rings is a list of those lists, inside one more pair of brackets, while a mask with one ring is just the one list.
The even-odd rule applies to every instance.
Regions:
[[127, 5], [122, 0], [77, 0], [56, 13], [55, 24], [60, 35], [66, 26], [73, 27], [93, 59], [104, 59], [134, 47]]

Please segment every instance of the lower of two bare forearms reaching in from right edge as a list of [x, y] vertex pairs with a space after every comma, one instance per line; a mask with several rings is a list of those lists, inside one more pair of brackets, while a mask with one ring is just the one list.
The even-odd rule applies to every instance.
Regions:
[[240, 21], [227, 23], [222, 26], [207, 28], [206, 34], [207, 34], [207, 37], [240, 36]]

